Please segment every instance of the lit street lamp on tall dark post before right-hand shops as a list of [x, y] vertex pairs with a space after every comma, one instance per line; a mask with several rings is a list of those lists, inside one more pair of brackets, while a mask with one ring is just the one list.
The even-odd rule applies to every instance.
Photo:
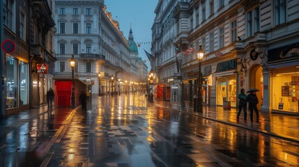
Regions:
[[204, 58], [204, 51], [199, 45], [199, 51], [197, 52], [197, 59], [199, 61], [199, 76], [198, 76], [198, 86], [197, 86], [197, 109], [194, 107], [194, 111], [202, 113], [202, 96], [201, 96], [201, 61]]

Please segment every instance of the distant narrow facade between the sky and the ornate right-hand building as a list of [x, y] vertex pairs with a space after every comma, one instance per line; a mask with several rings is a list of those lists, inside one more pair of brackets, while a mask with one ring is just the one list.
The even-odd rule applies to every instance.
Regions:
[[[165, 91], [171, 88], [170, 100], [178, 101], [178, 84], [174, 78], [180, 75], [180, 67], [176, 62], [176, 47], [174, 40], [178, 34], [178, 26], [174, 19], [174, 11], [178, 3], [189, 1], [158, 1], [155, 8], [155, 20], [152, 26], [152, 46], [151, 46], [151, 66], [154, 74], [155, 85], [160, 86]], [[186, 18], [187, 20], [187, 18]], [[157, 90], [154, 90], [155, 98], [158, 99]], [[180, 93], [181, 94], [181, 93]], [[165, 94], [166, 95], [166, 94]], [[175, 97], [172, 97], [175, 96]], [[169, 100], [167, 97], [163, 99]]]

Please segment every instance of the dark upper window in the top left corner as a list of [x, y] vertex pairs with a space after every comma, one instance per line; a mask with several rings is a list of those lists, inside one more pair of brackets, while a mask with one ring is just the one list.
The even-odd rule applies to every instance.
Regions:
[[9, 29], [13, 29], [13, 0], [3, 1], [3, 23]]

